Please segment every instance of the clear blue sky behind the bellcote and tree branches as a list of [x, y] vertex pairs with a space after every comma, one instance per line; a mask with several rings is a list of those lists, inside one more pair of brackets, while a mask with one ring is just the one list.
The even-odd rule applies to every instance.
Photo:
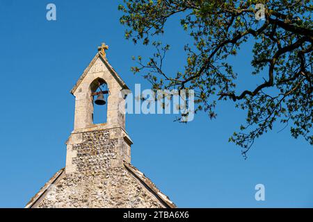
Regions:
[[[51, 1], [57, 20], [48, 22], [49, 1], [0, 0], [0, 207], [24, 207], [65, 166], [65, 141], [73, 129], [70, 89], [97, 52], [107, 57], [127, 85], [149, 85], [134, 76], [131, 56], [149, 56], [145, 46], [125, 40], [118, 1]], [[114, 2], [114, 3], [113, 3]], [[171, 45], [167, 71], [182, 69], [188, 37], [177, 19], [166, 27]], [[233, 58], [241, 87], [255, 87], [250, 76], [251, 42]], [[178, 207], [313, 207], [313, 149], [303, 138], [277, 125], [257, 139], [248, 160], [228, 138], [244, 121], [233, 103], [219, 103], [218, 118], [200, 113], [188, 124], [174, 115], [127, 115], [134, 141], [132, 164]], [[255, 200], [255, 185], [266, 200]]]

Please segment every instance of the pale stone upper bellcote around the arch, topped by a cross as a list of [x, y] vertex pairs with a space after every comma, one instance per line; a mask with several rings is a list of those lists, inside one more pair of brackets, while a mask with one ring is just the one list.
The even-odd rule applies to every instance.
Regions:
[[106, 127], [125, 128], [125, 99], [120, 96], [122, 89], [128, 89], [124, 81], [118, 76], [113, 67], [106, 60], [104, 49], [108, 47], [102, 44], [99, 52], [85, 69], [77, 84], [71, 90], [75, 96], [74, 130], [94, 127], [93, 124], [93, 96], [98, 83], [106, 83], [109, 89], [107, 105]]

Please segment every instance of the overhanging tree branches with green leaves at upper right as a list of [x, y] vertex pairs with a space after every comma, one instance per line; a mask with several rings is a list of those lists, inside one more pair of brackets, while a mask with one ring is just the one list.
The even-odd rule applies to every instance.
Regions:
[[[256, 19], [258, 3], [265, 7], [264, 20]], [[230, 137], [245, 157], [275, 121], [289, 123], [293, 137], [303, 136], [313, 145], [312, 8], [310, 0], [125, 0], [119, 6], [125, 37], [156, 47], [148, 62], [138, 57], [134, 73], [143, 72], [153, 89], [194, 89], [195, 112], [204, 110], [210, 118], [216, 117], [218, 100], [234, 101], [246, 110], [246, 123]], [[170, 46], [153, 40], [178, 14], [193, 41], [184, 45], [184, 69], [170, 75], [162, 67]], [[254, 41], [252, 75], [266, 78], [240, 92], [235, 80], [242, 74], [236, 74], [227, 59], [240, 53], [248, 40]]]

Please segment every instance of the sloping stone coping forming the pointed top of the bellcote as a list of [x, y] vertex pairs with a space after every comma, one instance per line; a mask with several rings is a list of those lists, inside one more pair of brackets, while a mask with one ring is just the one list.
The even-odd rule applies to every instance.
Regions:
[[129, 89], [129, 87], [127, 87], [127, 85], [125, 84], [125, 82], [122, 80], [122, 78], [120, 78], [120, 76], [118, 75], [118, 73], [113, 69], [113, 67], [109, 64], [108, 60], [102, 56], [102, 54], [100, 52], [97, 52], [97, 54], [95, 55], [95, 57], [93, 58], [93, 60], [91, 60], [90, 64], [88, 65], [88, 67], [83, 71], [83, 74], [81, 74], [81, 76], [79, 77], [79, 80], [77, 80], [77, 83], [74, 85], [74, 87], [72, 88], [72, 90], [70, 91], [71, 94], [74, 94], [74, 92], [76, 91], [76, 89], [79, 87], [79, 85], [81, 84], [81, 81], [83, 80], [83, 78], [85, 78], [85, 76], [88, 74], [88, 71], [91, 69], [91, 67], [93, 67], [93, 65], [95, 64], [95, 62], [97, 61], [97, 59], [100, 58], [100, 60], [102, 60], [102, 62], [104, 62], [104, 65], [106, 65], [106, 67], [109, 69], [109, 71], [111, 71], [112, 76], [115, 78], [115, 80], [120, 84], [120, 86], [123, 89]]

